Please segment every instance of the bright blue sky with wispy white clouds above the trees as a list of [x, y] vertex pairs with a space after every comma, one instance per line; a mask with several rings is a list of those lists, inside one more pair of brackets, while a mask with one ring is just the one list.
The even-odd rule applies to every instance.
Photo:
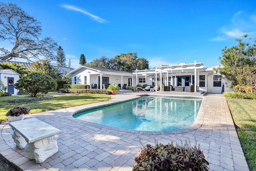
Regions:
[[[79, 66], [106, 56], [137, 52], [150, 69], [202, 62], [220, 64], [222, 49], [249, 34], [256, 40], [255, 0], [3, 0], [16, 3], [41, 22], [42, 38], [51, 37]], [[246, 42], [250, 40], [246, 39]], [[12, 47], [0, 42], [0, 47]], [[17, 60], [19, 61], [19, 60]]]

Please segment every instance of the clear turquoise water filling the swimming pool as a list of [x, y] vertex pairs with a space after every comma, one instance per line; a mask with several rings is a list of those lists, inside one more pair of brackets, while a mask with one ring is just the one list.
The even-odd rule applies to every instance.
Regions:
[[143, 97], [74, 115], [77, 119], [138, 131], [173, 131], [196, 120], [202, 99]]

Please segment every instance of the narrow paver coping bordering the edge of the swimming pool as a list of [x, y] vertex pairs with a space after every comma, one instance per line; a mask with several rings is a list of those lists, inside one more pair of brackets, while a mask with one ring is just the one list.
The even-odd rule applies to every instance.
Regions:
[[[205, 105], [206, 105], [206, 101], [204, 99], [204, 97], [193, 97], [193, 96], [170, 96], [170, 95], [149, 95], [149, 96], [154, 96], [154, 97], [168, 97], [168, 98], [189, 98], [189, 99], [202, 99], [202, 103], [200, 105], [200, 109], [198, 111], [198, 115], [196, 117], [195, 122], [190, 125], [189, 127], [186, 127], [184, 129], [179, 129], [179, 130], [173, 130], [173, 131], [138, 131], [138, 130], [133, 130], [133, 129], [124, 129], [124, 128], [118, 128], [118, 127], [112, 127], [112, 126], [108, 126], [108, 125], [102, 125], [99, 123], [92, 123], [89, 121], [83, 121], [80, 119], [76, 119], [74, 117], [74, 115], [77, 115], [79, 113], [82, 113], [84, 111], [89, 111], [89, 110], [93, 110], [93, 109], [99, 109], [102, 107], [107, 107], [107, 106], [111, 106], [111, 105], [115, 105], [115, 104], [120, 104], [120, 103], [124, 103], [127, 101], [132, 101], [134, 99], [139, 99], [141, 96], [135, 97], [135, 98], [131, 98], [131, 99], [126, 99], [126, 100], [122, 100], [122, 101], [113, 101], [110, 103], [105, 103], [102, 105], [94, 105], [94, 106], [90, 106], [90, 107], [85, 107], [83, 109], [79, 109], [77, 111], [74, 111], [72, 113], [69, 113], [66, 115], [66, 117], [69, 117], [71, 119], [74, 118], [76, 120], [82, 121], [88, 125], [92, 125], [92, 126], [96, 126], [99, 128], [105, 128], [105, 129], [112, 129], [115, 131], [122, 131], [122, 132], [127, 132], [127, 133], [139, 133], [139, 134], [148, 134], [148, 135], [170, 135], [170, 134], [179, 134], [179, 133], [187, 133], [190, 131], [194, 131], [195, 129], [198, 129], [199, 127], [202, 126], [203, 122], [204, 122], [204, 111], [205, 111]], [[147, 96], [147, 97], [149, 97]]]

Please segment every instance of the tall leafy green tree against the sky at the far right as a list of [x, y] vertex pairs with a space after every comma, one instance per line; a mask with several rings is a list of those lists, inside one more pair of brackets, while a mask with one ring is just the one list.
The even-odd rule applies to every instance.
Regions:
[[[248, 37], [247, 34], [244, 38]], [[252, 40], [252, 38], [250, 38]], [[256, 71], [256, 44], [246, 43], [242, 39], [236, 39], [238, 45], [222, 49], [222, 66], [214, 68], [214, 71], [225, 76], [234, 85], [252, 85]], [[255, 41], [256, 42], [256, 41]]]

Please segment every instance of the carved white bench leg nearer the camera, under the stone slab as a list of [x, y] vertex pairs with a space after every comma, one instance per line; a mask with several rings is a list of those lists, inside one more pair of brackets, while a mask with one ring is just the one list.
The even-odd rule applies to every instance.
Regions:
[[58, 135], [41, 139], [34, 143], [28, 143], [25, 151], [28, 153], [29, 159], [35, 159], [36, 163], [42, 163], [58, 151], [57, 139]]

